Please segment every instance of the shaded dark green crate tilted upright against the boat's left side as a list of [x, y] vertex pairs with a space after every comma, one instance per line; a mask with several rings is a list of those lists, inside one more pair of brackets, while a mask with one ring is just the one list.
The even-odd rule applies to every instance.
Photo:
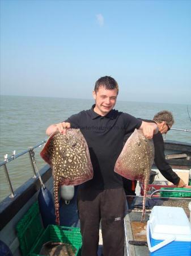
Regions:
[[27, 211], [24, 217], [16, 225], [16, 232], [20, 243], [20, 250], [23, 256], [27, 256], [43, 233], [44, 228], [41, 223], [39, 204], [36, 201]]

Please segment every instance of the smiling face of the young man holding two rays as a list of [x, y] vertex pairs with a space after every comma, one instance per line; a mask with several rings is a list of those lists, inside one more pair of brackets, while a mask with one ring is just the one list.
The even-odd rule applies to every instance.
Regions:
[[99, 115], [107, 115], [116, 104], [117, 100], [117, 90], [107, 90], [104, 86], [100, 86], [97, 92], [93, 92], [95, 100], [94, 111]]

